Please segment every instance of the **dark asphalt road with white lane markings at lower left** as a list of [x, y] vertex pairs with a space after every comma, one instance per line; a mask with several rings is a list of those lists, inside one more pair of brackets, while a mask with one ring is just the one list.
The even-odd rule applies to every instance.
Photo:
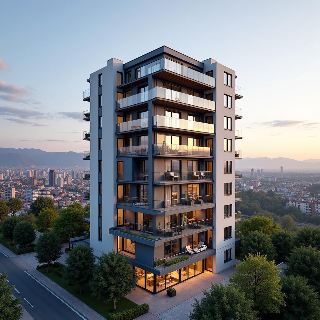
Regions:
[[13, 285], [13, 294], [24, 302], [23, 307], [35, 320], [81, 320], [76, 310], [71, 309], [52, 292], [47, 290], [12, 259], [0, 251], [0, 273], [8, 274], [8, 285]]

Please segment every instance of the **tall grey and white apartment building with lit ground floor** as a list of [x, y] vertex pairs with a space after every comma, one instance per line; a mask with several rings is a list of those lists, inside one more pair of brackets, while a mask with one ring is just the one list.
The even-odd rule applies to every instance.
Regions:
[[152, 293], [234, 265], [235, 71], [163, 46], [126, 63], [112, 58], [88, 82], [90, 230], [71, 243], [129, 257]]

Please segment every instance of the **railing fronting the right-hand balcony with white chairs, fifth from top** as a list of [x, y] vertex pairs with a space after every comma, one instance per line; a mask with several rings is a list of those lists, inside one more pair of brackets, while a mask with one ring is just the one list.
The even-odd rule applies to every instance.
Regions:
[[212, 180], [212, 171], [172, 171], [172, 172], [154, 172], [153, 180], [155, 182], [174, 182], [174, 181], [201, 181]]

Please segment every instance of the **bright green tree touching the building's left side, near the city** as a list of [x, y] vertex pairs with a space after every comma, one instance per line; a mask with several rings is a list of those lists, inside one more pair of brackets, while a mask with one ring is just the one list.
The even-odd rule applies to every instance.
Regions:
[[56, 220], [54, 232], [63, 241], [69, 238], [83, 235], [88, 225], [83, 220], [83, 207], [81, 204], [70, 204], [66, 209], [61, 211], [60, 218]]

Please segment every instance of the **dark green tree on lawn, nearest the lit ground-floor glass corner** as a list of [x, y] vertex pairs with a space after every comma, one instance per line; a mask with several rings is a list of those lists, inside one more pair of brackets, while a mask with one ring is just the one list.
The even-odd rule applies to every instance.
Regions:
[[128, 258], [112, 250], [108, 253], [102, 252], [89, 284], [93, 296], [104, 303], [112, 302], [113, 310], [116, 310], [116, 302], [130, 293], [137, 281]]

